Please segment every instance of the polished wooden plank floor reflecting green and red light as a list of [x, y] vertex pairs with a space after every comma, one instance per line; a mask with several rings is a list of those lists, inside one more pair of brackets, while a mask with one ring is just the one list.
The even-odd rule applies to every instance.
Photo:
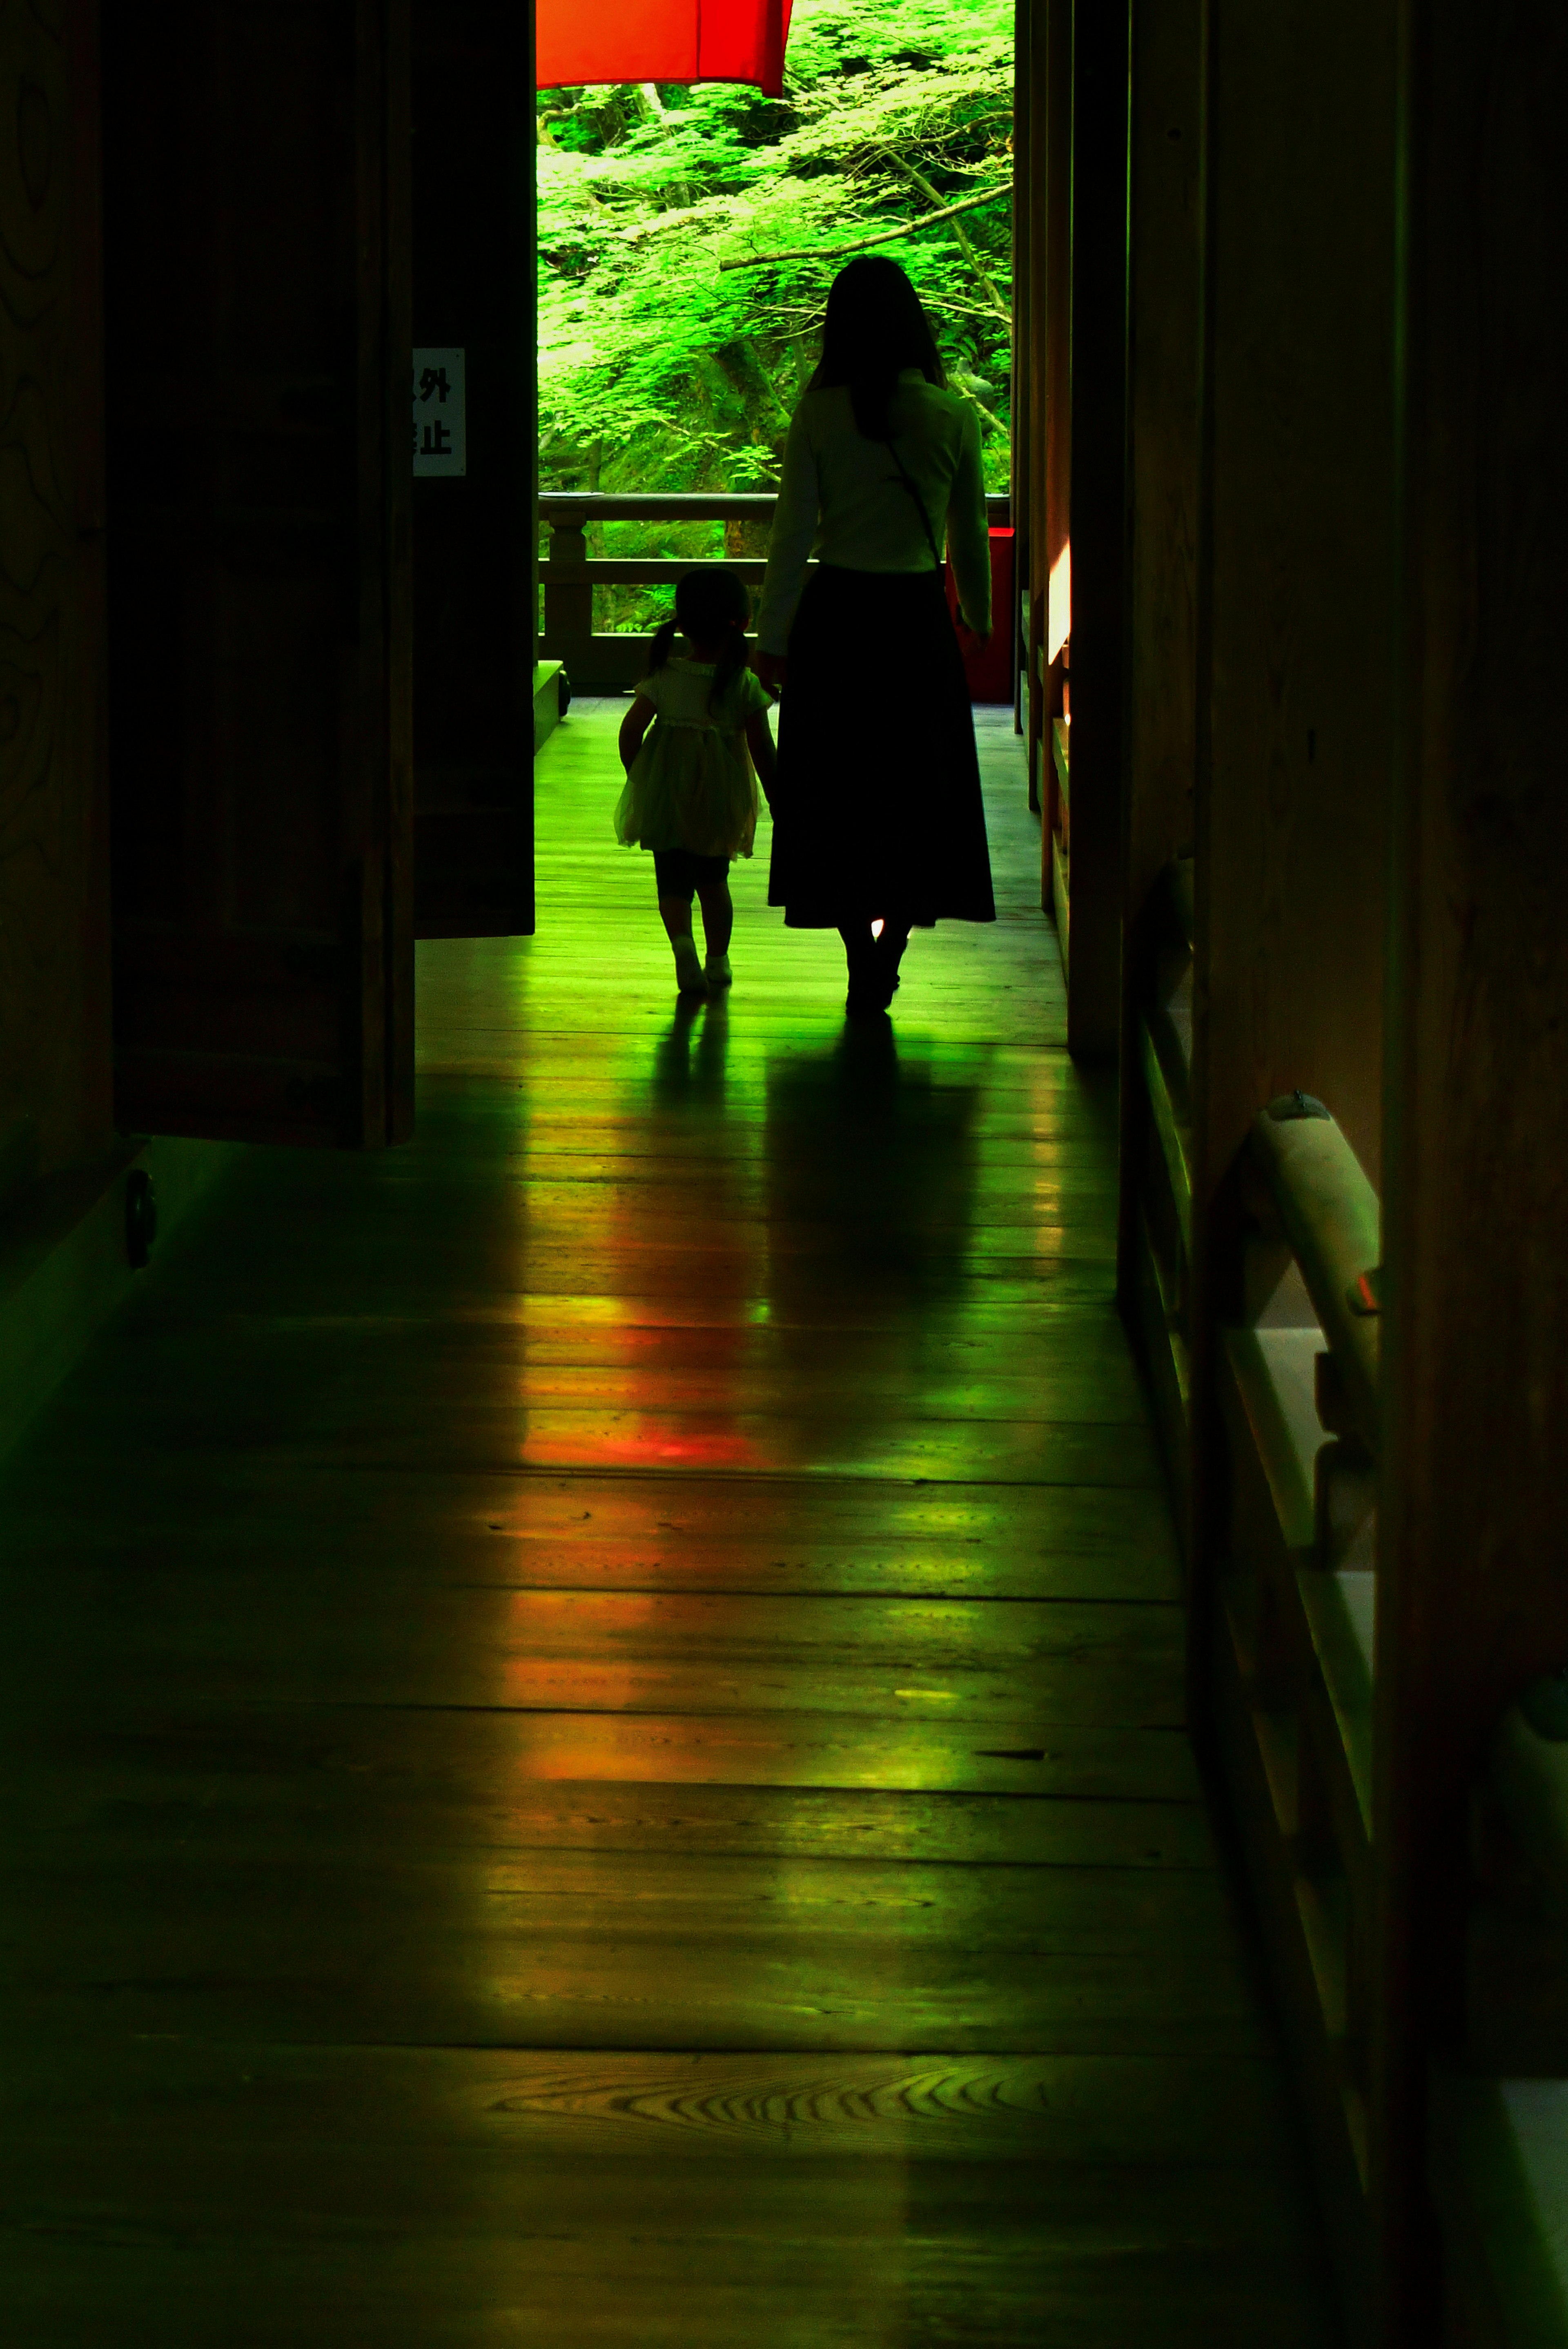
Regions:
[[859, 1034], [763, 853], [676, 1008], [613, 719], [418, 1139], [251, 1156], [9, 1468], [0, 2340], [1329, 2344], [1009, 723]]

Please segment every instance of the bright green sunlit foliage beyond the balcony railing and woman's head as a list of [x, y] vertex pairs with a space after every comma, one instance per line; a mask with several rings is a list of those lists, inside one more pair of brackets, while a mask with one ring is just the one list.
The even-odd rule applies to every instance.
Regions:
[[[542, 489], [772, 489], [843, 247], [915, 280], [948, 381], [976, 406], [988, 482], [1007, 486], [1012, 14], [1012, 0], [796, 0], [784, 99], [540, 92]], [[603, 552], [721, 540], [756, 552], [737, 524], [613, 524]], [[662, 604], [601, 590], [596, 625], [643, 627]]]

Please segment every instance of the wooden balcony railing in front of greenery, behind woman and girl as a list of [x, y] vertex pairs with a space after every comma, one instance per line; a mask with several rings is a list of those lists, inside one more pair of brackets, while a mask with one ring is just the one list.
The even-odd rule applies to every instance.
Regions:
[[[601, 521], [772, 521], [777, 498], [768, 493], [648, 493], [615, 496], [601, 491], [547, 491], [540, 498], [540, 521], [549, 531], [549, 554], [540, 564], [545, 590], [545, 637], [540, 655], [561, 660], [573, 691], [620, 691], [636, 684], [648, 658], [648, 637], [638, 632], [594, 630], [594, 587], [662, 587], [685, 571], [699, 571], [699, 557], [592, 557], [587, 533]], [[1007, 498], [988, 498], [993, 524], [1005, 524]], [[711, 561], [711, 557], [709, 557]], [[758, 587], [768, 568], [763, 557], [725, 557], [728, 571], [739, 571]]]

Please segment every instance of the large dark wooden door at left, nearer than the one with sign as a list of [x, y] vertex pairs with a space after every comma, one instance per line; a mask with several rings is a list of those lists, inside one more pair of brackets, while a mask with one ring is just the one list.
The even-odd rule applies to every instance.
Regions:
[[103, 12], [127, 1130], [411, 1123], [404, 19]]

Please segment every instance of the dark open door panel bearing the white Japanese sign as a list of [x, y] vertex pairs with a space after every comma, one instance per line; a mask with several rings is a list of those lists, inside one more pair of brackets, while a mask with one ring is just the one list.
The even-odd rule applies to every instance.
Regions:
[[[533, 930], [530, 35], [516, 0], [413, 0], [418, 937]], [[444, 467], [420, 451], [432, 430], [451, 444], [448, 378]]]

